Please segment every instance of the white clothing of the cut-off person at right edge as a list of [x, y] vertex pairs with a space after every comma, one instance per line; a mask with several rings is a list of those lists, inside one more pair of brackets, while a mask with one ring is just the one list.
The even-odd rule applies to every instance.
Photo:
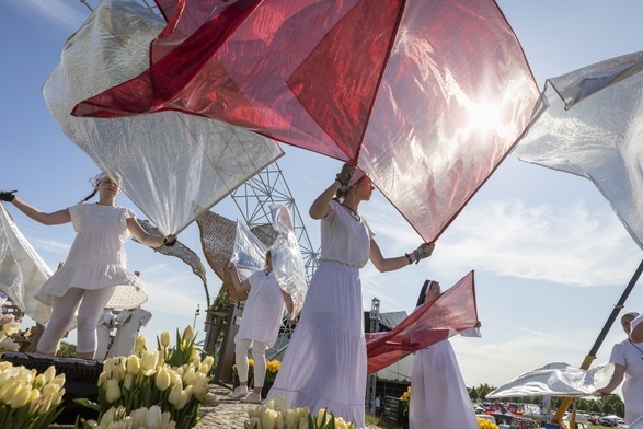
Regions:
[[643, 416], [643, 343], [625, 339], [611, 349], [609, 361], [625, 367], [623, 402], [625, 403], [625, 425]]

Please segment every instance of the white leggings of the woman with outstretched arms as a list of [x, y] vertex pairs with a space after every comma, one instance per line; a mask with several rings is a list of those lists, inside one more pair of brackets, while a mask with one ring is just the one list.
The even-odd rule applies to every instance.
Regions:
[[54, 355], [58, 350], [60, 340], [73, 321], [78, 309], [76, 352], [94, 352], [96, 350], [96, 324], [115, 290], [115, 286], [96, 290], [71, 288], [62, 297], [56, 298], [51, 318], [38, 340], [38, 351]]

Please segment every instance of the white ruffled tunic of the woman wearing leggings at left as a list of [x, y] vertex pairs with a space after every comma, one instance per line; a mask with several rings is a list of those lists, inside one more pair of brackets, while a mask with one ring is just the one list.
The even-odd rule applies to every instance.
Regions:
[[82, 202], [69, 208], [77, 232], [67, 260], [36, 292], [48, 305], [69, 289], [102, 289], [116, 286], [105, 306], [134, 309], [148, 299], [142, 281], [126, 269], [123, 244], [129, 236], [127, 218], [136, 218], [128, 208]]

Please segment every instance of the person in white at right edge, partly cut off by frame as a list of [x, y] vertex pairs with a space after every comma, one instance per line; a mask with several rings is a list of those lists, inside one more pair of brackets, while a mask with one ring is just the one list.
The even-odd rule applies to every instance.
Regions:
[[643, 343], [636, 343], [631, 337], [631, 324], [639, 317], [636, 312], [628, 312], [621, 316], [621, 326], [628, 338], [613, 345], [609, 361], [615, 366], [615, 372], [609, 383], [596, 391], [596, 395], [608, 395], [617, 389], [623, 378], [623, 402], [625, 403], [625, 425], [643, 416]]

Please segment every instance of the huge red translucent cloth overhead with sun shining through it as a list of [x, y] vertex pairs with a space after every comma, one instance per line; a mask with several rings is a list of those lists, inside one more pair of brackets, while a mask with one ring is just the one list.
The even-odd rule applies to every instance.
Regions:
[[538, 91], [492, 0], [158, 0], [139, 77], [78, 104], [180, 111], [351, 161], [425, 241], [523, 131]]

